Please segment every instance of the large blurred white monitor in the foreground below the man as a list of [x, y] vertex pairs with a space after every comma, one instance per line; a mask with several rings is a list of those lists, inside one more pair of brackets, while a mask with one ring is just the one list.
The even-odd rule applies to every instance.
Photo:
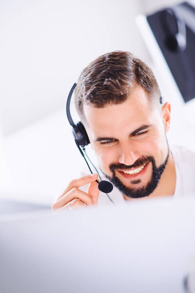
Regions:
[[0, 222], [2, 293], [184, 293], [195, 196]]

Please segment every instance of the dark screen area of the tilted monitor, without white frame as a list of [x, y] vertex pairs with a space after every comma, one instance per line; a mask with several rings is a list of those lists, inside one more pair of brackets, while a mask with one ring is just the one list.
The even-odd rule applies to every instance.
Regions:
[[185, 2], [147, 16], [185, 102], [195, 97], [195, 7]]

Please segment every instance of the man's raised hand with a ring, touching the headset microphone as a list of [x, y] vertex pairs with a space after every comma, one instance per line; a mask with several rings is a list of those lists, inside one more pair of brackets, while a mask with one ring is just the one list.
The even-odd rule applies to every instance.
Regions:
[[[62, 195], [53, 204], [52, 210], [56, 212], [62, 209], [69, 209], [69, 202], [71, 209], [97, 205], [99, 196], [97, 179], [98, 174], [91, 174], [72, 180]], [[89, 184], [87, 193], [78, 189], [86, 184]]]

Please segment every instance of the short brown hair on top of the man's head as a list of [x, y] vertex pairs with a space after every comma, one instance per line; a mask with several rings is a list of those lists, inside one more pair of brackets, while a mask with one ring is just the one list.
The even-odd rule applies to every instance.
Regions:
[[[104, 54], [80, 74], [75, 90], [75, 105], [83, 120], [83, 105], [102, 108], [123, 103], [136, 85], [145, 89], [152, 102], [159, 104], [160, 90], [152, 70], [130, 52]], [[155, 103], [156, 104], [156, 103]]]

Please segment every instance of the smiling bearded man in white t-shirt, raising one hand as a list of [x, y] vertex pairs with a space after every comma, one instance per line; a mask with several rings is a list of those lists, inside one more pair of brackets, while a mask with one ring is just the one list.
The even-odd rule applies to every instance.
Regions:
[[[100, 56], [79, 77], [79, 117], [101, 172], [123, 200], [195, 193], [195, 154], [169, 149], [171, 105], [160, 101], [152, 70], [129, 52]], [[97, 205], [97, 179], [94, 174], [71, 181], [52, 208]]]

